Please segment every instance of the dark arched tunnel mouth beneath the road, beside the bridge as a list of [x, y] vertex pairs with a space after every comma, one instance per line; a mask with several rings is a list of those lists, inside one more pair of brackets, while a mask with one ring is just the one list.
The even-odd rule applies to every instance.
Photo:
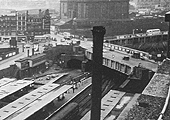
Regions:
[[71, 59], [67, 62], [67, 67], [72, 69], [81, 69], [82, 61], [77, 59]]

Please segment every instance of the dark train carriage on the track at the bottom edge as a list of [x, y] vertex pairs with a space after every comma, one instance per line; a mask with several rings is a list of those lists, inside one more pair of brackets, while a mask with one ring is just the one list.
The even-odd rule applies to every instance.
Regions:
[[46, 120], [79, 120], [79, 104], [76, 102], [69, 103], [58, 112], [51, 115]]

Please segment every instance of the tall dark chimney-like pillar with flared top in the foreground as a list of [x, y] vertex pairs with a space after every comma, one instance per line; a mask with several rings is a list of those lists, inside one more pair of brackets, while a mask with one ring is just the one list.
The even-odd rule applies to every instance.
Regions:
[[106, 30], [103, 26], [93, 27], [93, 72], [91, 120], [100, 120], [102, 97], [103, 41]]

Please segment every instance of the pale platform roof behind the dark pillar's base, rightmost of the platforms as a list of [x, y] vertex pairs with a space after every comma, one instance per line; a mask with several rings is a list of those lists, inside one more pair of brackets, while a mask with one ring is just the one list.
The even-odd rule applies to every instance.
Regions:
[[[135, 94], [121, 92], [117, 90], [110, 90], [101, 101], [101, 120], [116, 120], [119, 115], [122, 115], [123, 110], [132, 105]], [[130, 103], [130, 104], [129, 104]], [[126, 108], [126, 109], [127, 109]], [[85, 114], [81, 120], [89, 120], [90, 111]], [[120, 119], [120, 118], [119, 118]]]

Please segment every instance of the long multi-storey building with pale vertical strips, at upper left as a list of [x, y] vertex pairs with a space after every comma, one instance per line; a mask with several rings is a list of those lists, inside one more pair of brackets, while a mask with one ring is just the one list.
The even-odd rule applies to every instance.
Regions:
[[[38, 11], [38, 12], [37, 12]], [[0, 16], [0, 37], [18, 40], [33, 39], [36, 35], [50, 34], [49, 10], [16, 11]]]

